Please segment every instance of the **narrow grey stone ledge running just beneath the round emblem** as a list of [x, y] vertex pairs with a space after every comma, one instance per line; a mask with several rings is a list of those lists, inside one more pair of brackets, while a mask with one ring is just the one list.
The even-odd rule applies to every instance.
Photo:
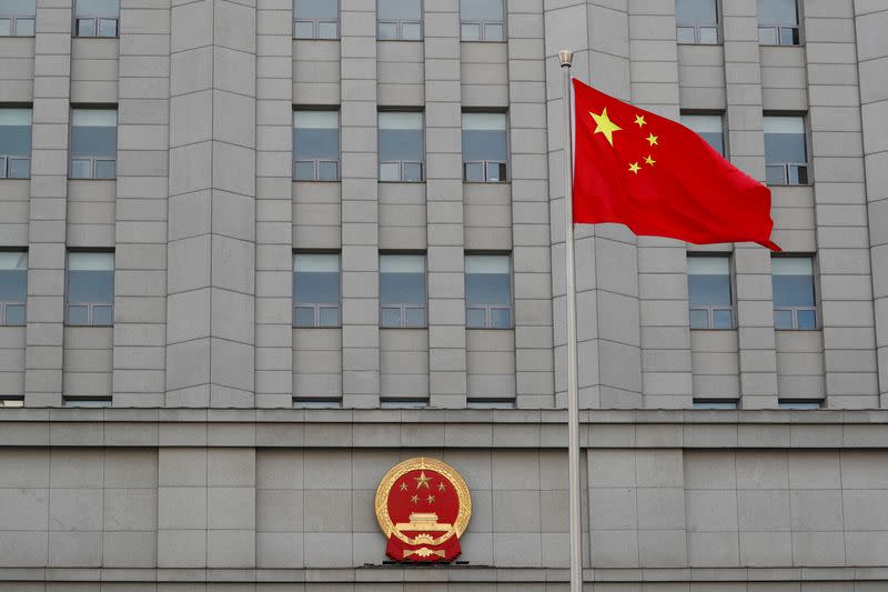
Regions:
[[[855, 582], [888, 581], [872, 568], [592, 568], [587, 582]], [[344, 569], [0, 568], [0, 582], [312, 583], [567, 582], [567, 569], [485, 565], [366, 565]]]

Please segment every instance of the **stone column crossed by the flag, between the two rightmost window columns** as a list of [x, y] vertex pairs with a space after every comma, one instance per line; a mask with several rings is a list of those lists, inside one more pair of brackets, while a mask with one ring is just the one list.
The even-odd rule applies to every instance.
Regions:
[[[730, 161], [755, 179], [764, 180], [765, 137], [756, 2], [737, 0], [725, 2], [723, 8]], [[734, 267], [743, 407], [777, 407], [770, 253], [758, 245], [737, 244]]]

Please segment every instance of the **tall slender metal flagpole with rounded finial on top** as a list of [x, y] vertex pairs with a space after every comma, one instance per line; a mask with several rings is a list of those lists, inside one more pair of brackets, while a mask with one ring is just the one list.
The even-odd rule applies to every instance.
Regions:
[[567, 503], [571, 523], [571, 592], [583, 590], [583, 530], [579, 484], [579, 391], [576, 357], [576, 277], [574, 271], [573, 150], [571, 133], [571, 64], [574, 52], [562, 50], [564, 72], [564, 262], [567, 275]]

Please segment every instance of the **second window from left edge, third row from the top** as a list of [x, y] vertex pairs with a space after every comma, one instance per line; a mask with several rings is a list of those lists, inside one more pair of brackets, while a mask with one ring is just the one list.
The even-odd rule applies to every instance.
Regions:
[[114, 253], [68, 253], [67, 323], [114, 323]]

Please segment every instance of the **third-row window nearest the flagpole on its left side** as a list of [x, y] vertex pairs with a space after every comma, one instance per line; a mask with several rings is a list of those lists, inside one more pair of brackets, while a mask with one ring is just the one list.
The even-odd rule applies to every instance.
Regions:
[[512, 327], [512, 274], [507, 254], [465, 255], [465, 325]]

